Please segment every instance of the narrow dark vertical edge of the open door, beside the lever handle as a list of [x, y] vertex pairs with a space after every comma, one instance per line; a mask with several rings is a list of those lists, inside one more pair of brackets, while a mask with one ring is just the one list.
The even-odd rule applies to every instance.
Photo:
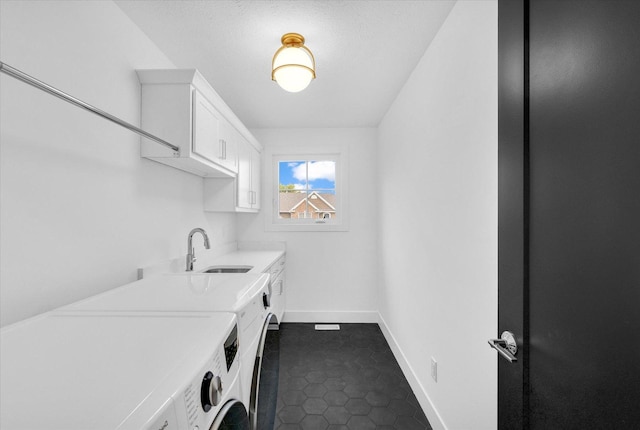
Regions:
[[498, 334], [513, 332], [519, 348], [518, 361], [498, 360], [502, 429], [525, 428], [528, 404], [525, 12], [523, 1], [498, 3]]

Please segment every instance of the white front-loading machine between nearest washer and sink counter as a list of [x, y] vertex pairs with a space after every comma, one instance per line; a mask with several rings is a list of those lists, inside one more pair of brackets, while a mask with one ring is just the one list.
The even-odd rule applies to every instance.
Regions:
[[[263, 349], [269, 328], [269, 274], [178, 273], [145, 278], [65, 306], [65, 311], [234, 312], [239, 328], [242, 401], [252, 429], [271, 429], [277, 396], [279, 354], [267, 360]], [[275, 377], [274, 377], [275, 373]], [[262, 411], [259, 413], [260, 403]], [[260, 417], [260, 418], [259, 418]]]

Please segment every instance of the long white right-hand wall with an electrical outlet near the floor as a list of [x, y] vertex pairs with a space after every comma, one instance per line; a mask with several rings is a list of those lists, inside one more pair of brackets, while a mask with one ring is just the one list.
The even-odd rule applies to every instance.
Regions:
[[454, 6], [379, 133], [385, 330], [434, 428], [496, 428], [496, 1]]

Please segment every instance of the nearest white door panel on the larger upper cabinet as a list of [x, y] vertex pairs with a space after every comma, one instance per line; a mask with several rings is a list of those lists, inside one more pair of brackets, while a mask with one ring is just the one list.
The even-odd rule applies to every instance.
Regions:
[[195, 154], [219, 164], [222, 146], [219, 141], [220, 114], [198, 91], [193, 90], [193, 142]]

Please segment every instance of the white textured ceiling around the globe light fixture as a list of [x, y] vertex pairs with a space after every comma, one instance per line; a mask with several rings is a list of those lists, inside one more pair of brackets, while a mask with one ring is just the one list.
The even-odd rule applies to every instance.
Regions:
[[[250, 128], [376, 126], [455, 1], [116, 0], [179, 68], [197, 68]], [[284, 33], [316, 58], [300, 93], [271, 81]]]

